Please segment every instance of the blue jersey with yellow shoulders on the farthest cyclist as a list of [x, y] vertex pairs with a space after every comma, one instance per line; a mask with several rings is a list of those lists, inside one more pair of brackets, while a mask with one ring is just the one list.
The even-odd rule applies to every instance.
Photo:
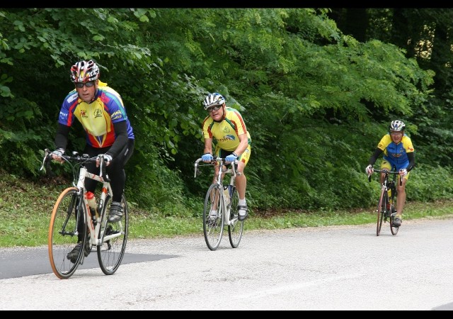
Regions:
[[377, 145], [377, 148], [379, 148], [379, 150], [383, 150], [384, 159], [389, 161], [391, 164], [394, 164], [396, 167], [401, 167], [401, 164], [408, 163], [409, 160], [407, 153], [414, 151], [411, 138], [409, 138], [406, 134], [404, 134], [403, 138], [401, 138], [401, 142], [395, 144], [391, 140], [390, 134], [387, 133], [381, 139]]

